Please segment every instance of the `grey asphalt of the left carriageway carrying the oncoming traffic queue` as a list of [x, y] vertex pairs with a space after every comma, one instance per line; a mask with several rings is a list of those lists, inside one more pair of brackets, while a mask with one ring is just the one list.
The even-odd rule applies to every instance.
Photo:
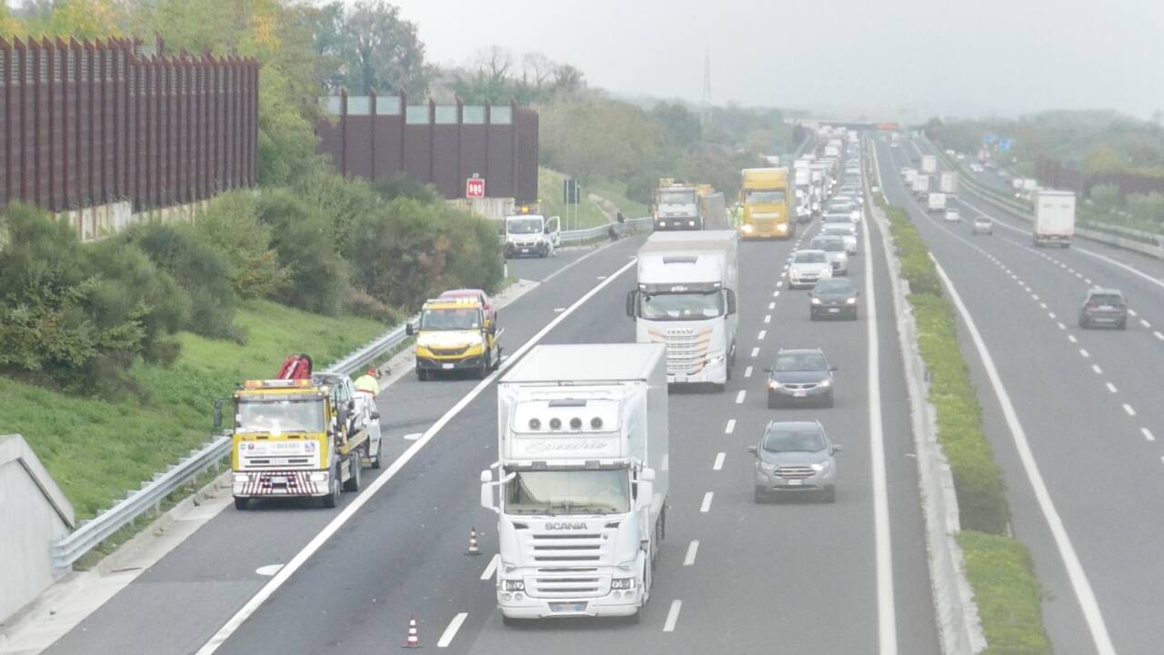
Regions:
[[[478, 505], [477, 482], [496, 460], [494, 384], [406, 376], [379, 399], [405, 463], [365, 478], [357, 506], [346, 496], [339, 514], [303, 504], [227, 510], [49, 653], [179, 654], [207, 642], [204, 654], [381, 653], [403, 645], [410, 617], [425, 647], [449, 653], [937, 653], [881, 236], [868, 233], [851, 264], [860, 319], [823, 323], [808, 320], [807, 292], [785, 287], [785, 263], [809, 236], [741, 244], [734, 379], [723, 393], [670, 394], [667, 539], [639, 624], [502, 625], [495, 519]], [[508, 351], [518, 356], [535, 334], [542, 343], [632, 340], [624, 299], [640, 241], [559, 275], [546, 262], [511, 262], [511, 272], [532, 265], [546, 282], [502, 309]], [[840, 366], [837, 406], [767, 410], [767, 362], [780, 347], [811, 346]], [[845, 446], [836, 504], [753, 503], [745, 448], [773, 418], [819, 418]], [[345, 522], [327, 527], [336, 515]], [[464, 555], [470, 527], [481, 557]], [[320, 533], [327, 539], [313, 540]], [[261, 591], [271, 578], [256, 569], [289, 562]]]

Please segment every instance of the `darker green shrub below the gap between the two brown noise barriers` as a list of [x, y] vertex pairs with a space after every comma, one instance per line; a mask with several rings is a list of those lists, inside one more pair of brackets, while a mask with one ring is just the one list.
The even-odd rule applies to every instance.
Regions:
[[275, 298], [308, 312], [338, 314], [348, 289], [348, 268], [336, 251], [332, 221], [289, 190], [264, 193], [258, 218], [271, 228], [271, 245], [290, 276], [290, 284]]

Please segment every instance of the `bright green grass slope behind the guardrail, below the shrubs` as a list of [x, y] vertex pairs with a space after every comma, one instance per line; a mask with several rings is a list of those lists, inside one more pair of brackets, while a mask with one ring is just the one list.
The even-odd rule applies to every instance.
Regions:
[[184, 333], [173, 366], [137, 363], [130, 375], [147, 390], [146, 400], [108, 403], [0, 377], [0, 434], [22, 434], [77, 518], [91, 518], [205, 443], [214, 399], [228, 398], [239, 380], [272, 377], [291, 353], [325, 366], [386, 329], [269, 301], [243, 305], [235, 325], [247, 332], [246, 346]]

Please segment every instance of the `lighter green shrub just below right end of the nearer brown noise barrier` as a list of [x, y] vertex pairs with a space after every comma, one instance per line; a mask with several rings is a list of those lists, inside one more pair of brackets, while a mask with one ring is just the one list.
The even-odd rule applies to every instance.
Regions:
[[258, 199], [253, 192], [219, 195], [198, 216], [194, 228], [226, 258], [239, 298], [269, 298], [288, 285], [290, 273], [271, 248], [271, 228], [258, 220]]

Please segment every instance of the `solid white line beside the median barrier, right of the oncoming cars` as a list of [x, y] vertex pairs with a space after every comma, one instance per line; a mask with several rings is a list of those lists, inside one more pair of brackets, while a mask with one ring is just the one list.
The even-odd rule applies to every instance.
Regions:
[[[866, 195], [868, 194], [866, 186]], [[866, 202], [872, 202], [867, 198]], [[874, 221], [866, 220], [868, 225]], [[889, 532], [889, 487], [885, 469], [885, 433], [881, 425], [881, 354], [878, 340], [876, 292], [873, 285], [874, 263], [872, 227], [863, 229], [868, 270], [865, 271], [865, 334], [868, 354], [870, 451], [873, 472], [873, 534], [876, 561], [876, 614], [880, 655], [897, 655], [897, 610], [893, 588], [893, 540]], [[882, 235], [883, 237], [883, 235]]]

